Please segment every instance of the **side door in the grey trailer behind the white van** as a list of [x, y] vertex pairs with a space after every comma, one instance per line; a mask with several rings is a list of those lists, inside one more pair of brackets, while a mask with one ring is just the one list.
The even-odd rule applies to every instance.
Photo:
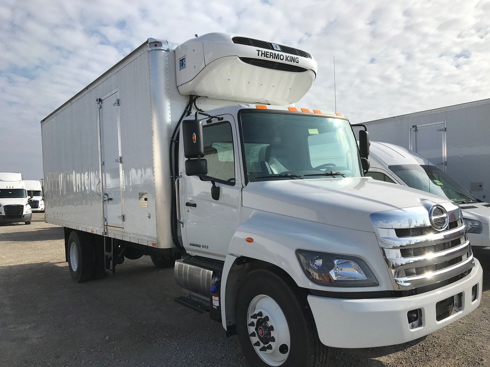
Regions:
[[410, 128], [410, 149], [446, 172], [445, 122], [412, 126]]

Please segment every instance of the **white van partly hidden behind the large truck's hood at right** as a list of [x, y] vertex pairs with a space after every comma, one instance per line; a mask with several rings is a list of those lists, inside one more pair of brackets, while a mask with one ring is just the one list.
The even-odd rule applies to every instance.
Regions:
[[376, 180], [417, 188], [458, 204], [475, 252], [490, 252], [490, 204], [473, 196], [438, 166], [412, 150], [372, 141], [371, 168]]

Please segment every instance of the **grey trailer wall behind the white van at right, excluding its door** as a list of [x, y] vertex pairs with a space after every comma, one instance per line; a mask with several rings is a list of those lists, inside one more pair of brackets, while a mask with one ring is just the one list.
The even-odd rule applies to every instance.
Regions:
[[[490, 198], [490, 99], [365, 122], [369, 139], [410, 148], [410, 128], [445, 122], [446, 173], [477, 198]], [[481, 190], [479, 184], [482, 184]], [[477, 188], [477, 190], [475, 190]]]

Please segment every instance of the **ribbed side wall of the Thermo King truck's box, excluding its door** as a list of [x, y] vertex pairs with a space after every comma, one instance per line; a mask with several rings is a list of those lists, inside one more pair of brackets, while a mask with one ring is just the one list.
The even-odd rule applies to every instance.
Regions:
[[[123, 157], [123, 231], [155, 242], [155, 186], [146, 46], [137, 49], [133, 57], [125, 61], [42, 124], [46, 220], [59, 225], [82, 225], [102, 230], [96, 100], [117, 90]], [[114, 158], [117, 157], [110, 159]], [[139, 193], [147, 193], [147, 206], [140, 205]]]

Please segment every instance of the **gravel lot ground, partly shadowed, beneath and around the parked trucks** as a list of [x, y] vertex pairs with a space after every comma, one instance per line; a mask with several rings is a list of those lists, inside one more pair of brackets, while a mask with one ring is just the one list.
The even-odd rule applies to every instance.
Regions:
[[[237, 337], [173, 301], [173, 269], [144, 256], [106, 279], [76, 284], [63, 229], [35, 213], [0, 226], [0, 366], [245, 367]], [[490, 366], [490, 256], [480, 307], [416, 341], [329, 350], [331, 366]], [[373, 330], [376, 338], [376, 330]]]

